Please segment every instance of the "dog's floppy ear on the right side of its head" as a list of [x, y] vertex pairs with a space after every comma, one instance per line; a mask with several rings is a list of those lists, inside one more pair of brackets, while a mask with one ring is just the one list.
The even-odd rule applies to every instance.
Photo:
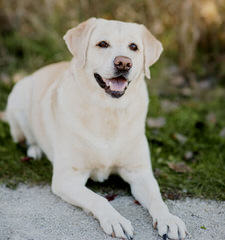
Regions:
[[150, 79], [149, 67], [158, 60], [163, 51], [163, 47], [160, 41], [157, 40], [144, 25], [142, 25], [142, 28], [145, 76]]

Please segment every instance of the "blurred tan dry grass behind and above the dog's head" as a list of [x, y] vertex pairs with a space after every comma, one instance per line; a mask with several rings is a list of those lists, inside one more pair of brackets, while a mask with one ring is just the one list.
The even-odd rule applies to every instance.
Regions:
[[51, 36], [60, 45], [68, 28], [92, 16], [135, 21], [163, 41], [166, 54], [182, 71], [193, 70], [199, 53], [204, 64], [213, 65], [212, 72], [224, 68], [223, 0], [1, 0], [0, 8], [2, 34], [14, 31], [32, 39]]

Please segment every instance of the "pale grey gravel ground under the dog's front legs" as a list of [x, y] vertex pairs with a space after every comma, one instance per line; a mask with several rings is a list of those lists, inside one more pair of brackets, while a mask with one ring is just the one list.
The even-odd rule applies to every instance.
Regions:
[[[117, 196], [111, 204], [135, 229], [135, 240], [159, 240], [148, 212], [129, 196]], [[194, 240], [225, 239], [225, 202], [186, 199], [167, 201], [181, 217]], [[0, 240], [105, 240], [97, 220], [54, 196], [49, 186], [17, 190], [0, 186]]]

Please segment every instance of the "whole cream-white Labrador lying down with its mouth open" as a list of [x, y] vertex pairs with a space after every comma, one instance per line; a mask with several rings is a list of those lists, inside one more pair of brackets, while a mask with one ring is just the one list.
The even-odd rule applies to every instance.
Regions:
[[85, 184], [117, 173], [163, 239], [184, 239], [185, 224], [160, 195], [145, 136], [144, 75], [150, 78], [161, 43], [143, 25], [96, 18], [64, 39], [72, 61], [40, 69], [9, 96], [5, 118], [14, 141], [25, 138], [30, 157], [40, 158], [43, 151], [53, 164], [52, 191], [91, 212], [107, 234], [132, 239], [133, 228]]

